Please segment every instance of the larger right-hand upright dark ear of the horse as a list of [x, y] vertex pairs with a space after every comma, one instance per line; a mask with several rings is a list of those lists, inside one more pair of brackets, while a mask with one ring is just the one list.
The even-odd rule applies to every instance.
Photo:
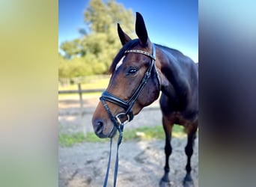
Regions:
[[140, 13], [136, 12], [135, 31], [142, 46], [147, 45], [147, 28]]

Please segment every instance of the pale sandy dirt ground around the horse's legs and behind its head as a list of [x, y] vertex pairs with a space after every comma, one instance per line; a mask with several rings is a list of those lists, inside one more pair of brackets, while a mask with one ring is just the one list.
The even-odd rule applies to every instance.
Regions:
[[[59, 99], [59, 133], [91, 132], [93, 130], [91, 116], [98, 100], [98, 97], [85, 99], [83, 105], [85, 114], [80, 117], [78, 99]], [[125, 126], [125, 129], [159, 124], [161, 124], [161, 112], [158, 102], [155, 102], [150, 107], [144, 108], [131, 123]], [[186, 174], [184, 152], [186, 138], [172, 138], [171, 145], [173, 147], [169, 173], [171, 186], [182, 186]], [[164, 173], [164, 146], [163, 140], [122, 142], [119, 149], [117, 186], [159, 186], [159, 180]], [[108, 186], [113, 186], [115, 153], [116, 141], [113, 141]], [[109, 159], [109, 143], [85, 142], [73, 147], [59, 147], [58, 159], [60, 187], [103, 186]], [[198, 186], [198, 138], [195, 139], [192, 156], [192, 178], [195, 187]]]

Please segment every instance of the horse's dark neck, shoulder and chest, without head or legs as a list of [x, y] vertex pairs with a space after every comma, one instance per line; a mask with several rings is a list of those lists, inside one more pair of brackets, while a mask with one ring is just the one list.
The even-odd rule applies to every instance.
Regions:
[[168, 48], [163, 46], [158, 49], [162, 53], [159, 54], [162, 57], [159, 63], [163, 74], [160, 99], [162, 114], [180, 114], [184, 119], [195, 120], [198, 116], [197, 65], [177, 50], [167, 51]]

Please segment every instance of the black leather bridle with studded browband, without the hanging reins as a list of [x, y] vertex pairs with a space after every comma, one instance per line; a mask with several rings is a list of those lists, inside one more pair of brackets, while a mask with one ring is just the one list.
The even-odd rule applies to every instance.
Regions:
[[[147, 84], [148, 79], [150, 79], [150, 75], [151, 75], [153, 69], [156, 72], [156, 77], [157, 77], [157, 80], [158, 80], [159, 86], [160, 86], [159, 74], [156, 70], [156, 64], [155, 64], [155, 61], [156, 61], [155, 45], [152, 43], [152, 55], [149, 52], [144, 52], [144, 51], [138, 50], [138, 49], [127, 50], [124, 52], [124, 54], [131, 53], [131, 52], [146, 55], [147, 57], [151, 58], [150, 67], [148, 67], [146, 73], [144, 73], [144, 77], [141, 80], [141, 84], [138, 85], [138, 88], [135, 90], [135, 92], [132, 94], [132, 96], [129, 98], [128, 101], [125, 101], [124, 99], [121, 99], [118, 96], [115, 96], [112, 93], [109, 93], [108, 91], [104, 91], [102, 96], [100, 97], [101, 102], [103, 102], [104, 108], [106, 108], [106, 111], [108, 112], [110, 119], [112, 120], [112, 122], [114, 123], [115, 127], [118, 129], [119, 132], [121, 132], [119, 126], [122, 123], [119, 117], [121, 115], [125, 115], [125, 116], [127, 116], [128, 121], [131, 121], [133, 119], [132, 106], [135, 104], [135, 101], [138, 99], [139, 94], [141, 93], [144, 86]], [[112, 114], [112, 112], [110, 111], [108, 105], [106, 104], [106, 101], [112, 102], [115, 105], [119, 105], [121, 108], [124, 108], [125, 112], [114, 116]]]

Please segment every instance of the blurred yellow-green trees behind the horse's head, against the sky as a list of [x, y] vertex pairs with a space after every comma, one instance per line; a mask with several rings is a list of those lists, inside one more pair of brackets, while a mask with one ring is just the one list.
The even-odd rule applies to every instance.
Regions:
[[82, 37], [61, 44], [64, 57], [59, 59], [59, 77], [88, 76], [107, 73], [115, 54], [121, 48], [118, 38], [119, 22], [129, 35], [134, 36], [134, 16], [115, 0], [91, 0], [85, 8], [86, 29]]

